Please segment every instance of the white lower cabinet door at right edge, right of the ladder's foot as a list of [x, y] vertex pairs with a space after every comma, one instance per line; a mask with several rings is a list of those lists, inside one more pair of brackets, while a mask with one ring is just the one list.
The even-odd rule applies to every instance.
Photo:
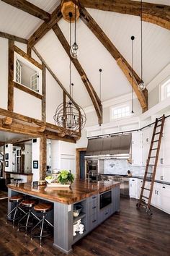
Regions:
[[159, 206], [166, 213], [170, 214], [170, 185], [160, 184]]

